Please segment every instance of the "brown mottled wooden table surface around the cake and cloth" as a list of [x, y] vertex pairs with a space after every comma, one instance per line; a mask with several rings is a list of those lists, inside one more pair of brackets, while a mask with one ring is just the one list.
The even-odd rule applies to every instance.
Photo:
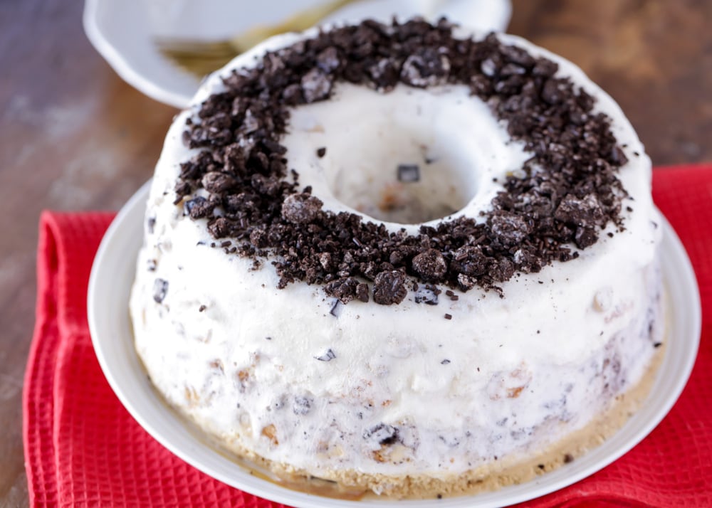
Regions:
[[[627, 112], [654, 164], [712, 160], [712, 1], [515, 0], [510, 31], [569, 58]], [[0, 506], [28, 504], [21, 393], [40, 211], [120, 208], [176, 110], [122, 82], [83, 3], [0, 2]]]

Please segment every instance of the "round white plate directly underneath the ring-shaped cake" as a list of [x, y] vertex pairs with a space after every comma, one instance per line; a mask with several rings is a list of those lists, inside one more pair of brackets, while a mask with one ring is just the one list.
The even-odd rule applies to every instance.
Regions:
[[[250, 475], [239, 460], [230, 460], [199, 437], [152, 388], [133, 348], [128, 298], [135, 272], [135, 254], [143, 238], [148, 184], [142, 187], [111, 224], [96, 255], [89, 281], [89, 328], [99, 364], [129, 413], [156, 440], [211, 477], [273, 501], [295, 507], [404, 507], [428, 501], [342, 501], [303, 494]], [[661, 248], [672, 322], [666, 351], [651, 396], [624, 427], [587, 455], [535, 480], [473, 497], [441, 499], [439, 507], [500, 507], [548, 494], [602, 469], [639, 443], [670, 411], [692, 370], [697, 354], [701, 310], [689, 259], [679, 238], [663, 221]], [[674, 284], [671, 283], [674, 281]]]

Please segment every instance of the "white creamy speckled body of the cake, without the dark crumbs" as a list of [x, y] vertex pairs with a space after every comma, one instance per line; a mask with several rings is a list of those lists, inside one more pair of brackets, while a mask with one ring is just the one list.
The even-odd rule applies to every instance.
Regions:
[[[264, 51], [304, 36], [273, 38], [229, 68], [253, 65]], [[625, 231], [609, 238], [609, 226], [577, 260], [516, 275], [501, 285], [503, 298], [474, 289], [456, 291], [456, 301], [441, 294], [438, 305], [415, 303], [414, 292], [400, 305], [341, 305], [320, 286], [297, 282], [278, 290], [268, 262], [253, 270], [252, 260], [211, 248], [206, 222], [172, 204], [179, 164], [197, 152], [181, 142], [193, 114], [187, 110], [169, 129], [157, 164], [147, 203], [155, 225], [147, 229], [130, 304], [137, 351], [170, 403], [224, 440], [314, 475], [439, 475], [556, 440], [642, 376], [654, 351], [649, 326], [661, 319], [650, 161], [619, 107], [578, 68], [519, 38], [501, 39], [555, 60], [559, 74], [596, 97], [596, 109], [612, 118], [629, 159], [619, 174], [629, 192], [623, 206], [632, 207], [622, 213]], [[212, 76], [194, 104], [222, 87], [219, 75]], [[507, 171], [526, 157], [461, 87], [399, 86], [387, 95], [337, 87], [334, 101], [296, 108], [283, 139], [300, 186], [313, 186], [332, 211], [352, 211], [365, 201], [360, 182], [350, 178], [363, 171], [377, 179], [379, 172], [361, 161], [387, 166], [392, 179], [394, 163], [418, 153], [409, 139], [380, 128], [405, 125], [426, 154], [432, 149], [449, 158], [469, 199], [454, 216], [476, 217], [488, 208]], [[360, 112], [362, 122], [352, 122]], [[424, 129], [429, 123], [437, 126], [432, 134]], [[395, 153], [383, 147], [369, 153], [370, 144], [360, 145], [391, 135]], [[324, 157], [316, 153], [320, 147], [327, 149]], [[476, 162], [473, 175], [462, 169], [469, 158]], [[364, 213], [369, 206], [357, 211], [375, 220]], [[152, 297], [157, 279], [167, 282], [162, 302]], [[606, 384], [609, 396], [602, 397]], [[397, 445], [382, 447], [392, 428]], [[375, 452], [389, 460], [374, 460]]]

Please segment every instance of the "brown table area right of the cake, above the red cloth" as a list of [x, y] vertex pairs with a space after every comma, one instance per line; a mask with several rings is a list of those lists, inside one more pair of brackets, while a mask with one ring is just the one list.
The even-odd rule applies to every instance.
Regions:
[[712, 159], [712, 2], [515, 0], [510, 31], [616, 99], [653, 164]]

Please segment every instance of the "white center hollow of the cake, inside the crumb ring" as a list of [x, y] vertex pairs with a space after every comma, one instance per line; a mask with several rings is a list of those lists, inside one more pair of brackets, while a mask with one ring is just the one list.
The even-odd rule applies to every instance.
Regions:
[[507, 140], [465, 86], [382, 93], [340, 84], [331, 100], [293, 110], [285, 144], [300, 185], [329, 209], [417, 225], [485, 197], [491, 184], [481, 179], [509, 166]]

